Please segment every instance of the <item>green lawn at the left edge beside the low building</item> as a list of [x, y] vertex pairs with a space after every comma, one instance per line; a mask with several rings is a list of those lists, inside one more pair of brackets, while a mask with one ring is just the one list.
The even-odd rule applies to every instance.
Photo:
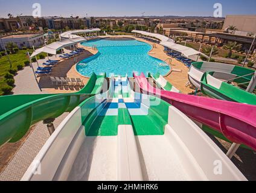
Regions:
[[[11, 68], [17, 69], [18, 65], [24, 65], [24, 62], [27, 61], [27, 52], [30, 52], [30, 54], [33, 52], [33, 49], [27, 49], [27, 50], [19, 50], [16, 52], [16, 54], [9, 54], [9, 58], [11, 61]], [[43, 54], [46, 55], [46, 54]], [[0, 95], [3, 95], [4, 92], [2, 92], [2, 87], [7, 86], [8, 84], [5, 82], [4, 75], [7, 73], [10, 69], [10, 63], [8, 62], [7, 56], [0, 57]]]

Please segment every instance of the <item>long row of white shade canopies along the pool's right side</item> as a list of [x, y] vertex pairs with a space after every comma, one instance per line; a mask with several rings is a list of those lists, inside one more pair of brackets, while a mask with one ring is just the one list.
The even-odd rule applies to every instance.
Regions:
[[161, 40], [161, 45], [165, 46], [167, 48], [173, 49], [174, 51], [181, 52], [181, 54], [185, 55], [185, 57], [190, 58], [193, 55], [198, 55], [202, 54], [199, 51], [196, 51], [193, 48], [189, 48], [187, 46], [182, 46], [177, 43], [174, 43], [174, 41], [166, 36], [162, 36], [161, 34], [155, 34], [155, 33], [148, 33], [146, 31], [139, 31], [139, 30], [133, 30], [132, 33], [138, 33], [142, 34], [144, 36], [150, 36], [150, 37], [155, 37], [159, 40]]

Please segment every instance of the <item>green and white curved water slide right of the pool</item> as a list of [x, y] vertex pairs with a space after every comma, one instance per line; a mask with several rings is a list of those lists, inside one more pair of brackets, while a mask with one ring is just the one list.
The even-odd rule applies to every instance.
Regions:
[[197, 89], [213, 98], [255, 105], [256, 95], [244, 90], [254, 74], [253, 69], [241, 66], [194, 62], [188, 72], [188, 79]]

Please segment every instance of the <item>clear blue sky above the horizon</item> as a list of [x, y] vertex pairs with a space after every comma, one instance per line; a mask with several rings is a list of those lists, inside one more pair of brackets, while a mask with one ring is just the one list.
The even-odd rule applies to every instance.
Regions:
[[226, 14], [256, 14], [255, 0], [0, 0], [0, 17], [31, 15], [32, 4], [42, 5], [42, 16], [213, 16], [213, 5]]

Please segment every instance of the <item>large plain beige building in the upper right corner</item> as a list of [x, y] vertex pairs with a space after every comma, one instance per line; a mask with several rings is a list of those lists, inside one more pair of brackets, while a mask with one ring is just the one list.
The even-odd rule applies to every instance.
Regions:
[[229, 26], [235, 26], [238, 31], [256, 33], [256, 15], [228, 15], [223, 24], [225, 31]]

